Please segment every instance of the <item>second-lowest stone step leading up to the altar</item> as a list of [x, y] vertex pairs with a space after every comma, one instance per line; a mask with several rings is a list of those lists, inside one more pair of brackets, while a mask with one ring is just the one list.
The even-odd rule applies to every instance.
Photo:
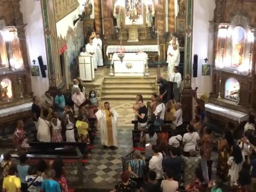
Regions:
[[137, 95], [137, 94], [145, 94], [145, 95], [152, 95], [156, 93], [155, 89], [140, 89], [140, 90], [134, 90], [134, 89], [103, 89], [102, 95], [122, 95], [122, 94], [128, 94], [128, 95]]

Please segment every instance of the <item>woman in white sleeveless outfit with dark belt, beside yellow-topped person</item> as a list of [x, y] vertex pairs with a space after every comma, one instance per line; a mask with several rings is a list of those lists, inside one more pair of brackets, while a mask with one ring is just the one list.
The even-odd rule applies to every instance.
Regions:
[[68, 112], [65, 119], [66, 123], [66, 142], [76, 142], [74, 133], [75, 118], [72, 112]]

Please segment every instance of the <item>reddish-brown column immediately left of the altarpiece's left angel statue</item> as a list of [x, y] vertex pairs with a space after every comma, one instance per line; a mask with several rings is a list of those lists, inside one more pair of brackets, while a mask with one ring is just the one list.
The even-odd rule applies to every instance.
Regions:
[[[104, 7], [104, 8], [103, 8]], [[113, 34], [113, 18], [111, 14], [111, 1], [101, 0], [103, 36], [111, 38]]]

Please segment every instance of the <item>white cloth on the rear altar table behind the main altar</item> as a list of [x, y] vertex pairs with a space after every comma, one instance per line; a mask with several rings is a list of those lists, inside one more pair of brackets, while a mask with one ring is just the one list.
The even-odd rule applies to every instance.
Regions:
[[[119, 46], [120, 48], [120, 46]], [[158, 52], [158, 46], [157, 45], [125, 45], [124, 46], [125, 52]], [[108, 56], [108, 53], [115, 53], [117, 52], [117, 45], [109, 45], [107, 46], [106, 55]]]

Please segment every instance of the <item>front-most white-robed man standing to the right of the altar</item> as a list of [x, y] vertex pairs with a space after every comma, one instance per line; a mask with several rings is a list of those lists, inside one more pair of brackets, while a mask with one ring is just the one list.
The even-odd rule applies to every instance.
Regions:
[[[177, 45], [173, 42], [172, 44], [173, 49], [169, 50], [168, 52], [168, 76], [170, 78], [170, 75], [173, 73], [174, 67], [179, 66], [180, 64], [180, 52], [178, 50]], [[170, 79], [171, 81], [171, 79]]]

